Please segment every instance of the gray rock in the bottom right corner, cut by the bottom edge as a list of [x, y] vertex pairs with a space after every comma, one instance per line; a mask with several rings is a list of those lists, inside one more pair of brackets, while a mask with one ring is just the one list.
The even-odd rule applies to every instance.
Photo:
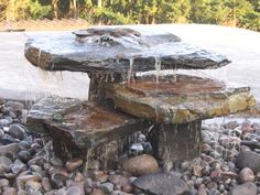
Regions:
[[247, 182], [234, 187], [231, 195], [257, 195], [257, 186], [254, 183]]

